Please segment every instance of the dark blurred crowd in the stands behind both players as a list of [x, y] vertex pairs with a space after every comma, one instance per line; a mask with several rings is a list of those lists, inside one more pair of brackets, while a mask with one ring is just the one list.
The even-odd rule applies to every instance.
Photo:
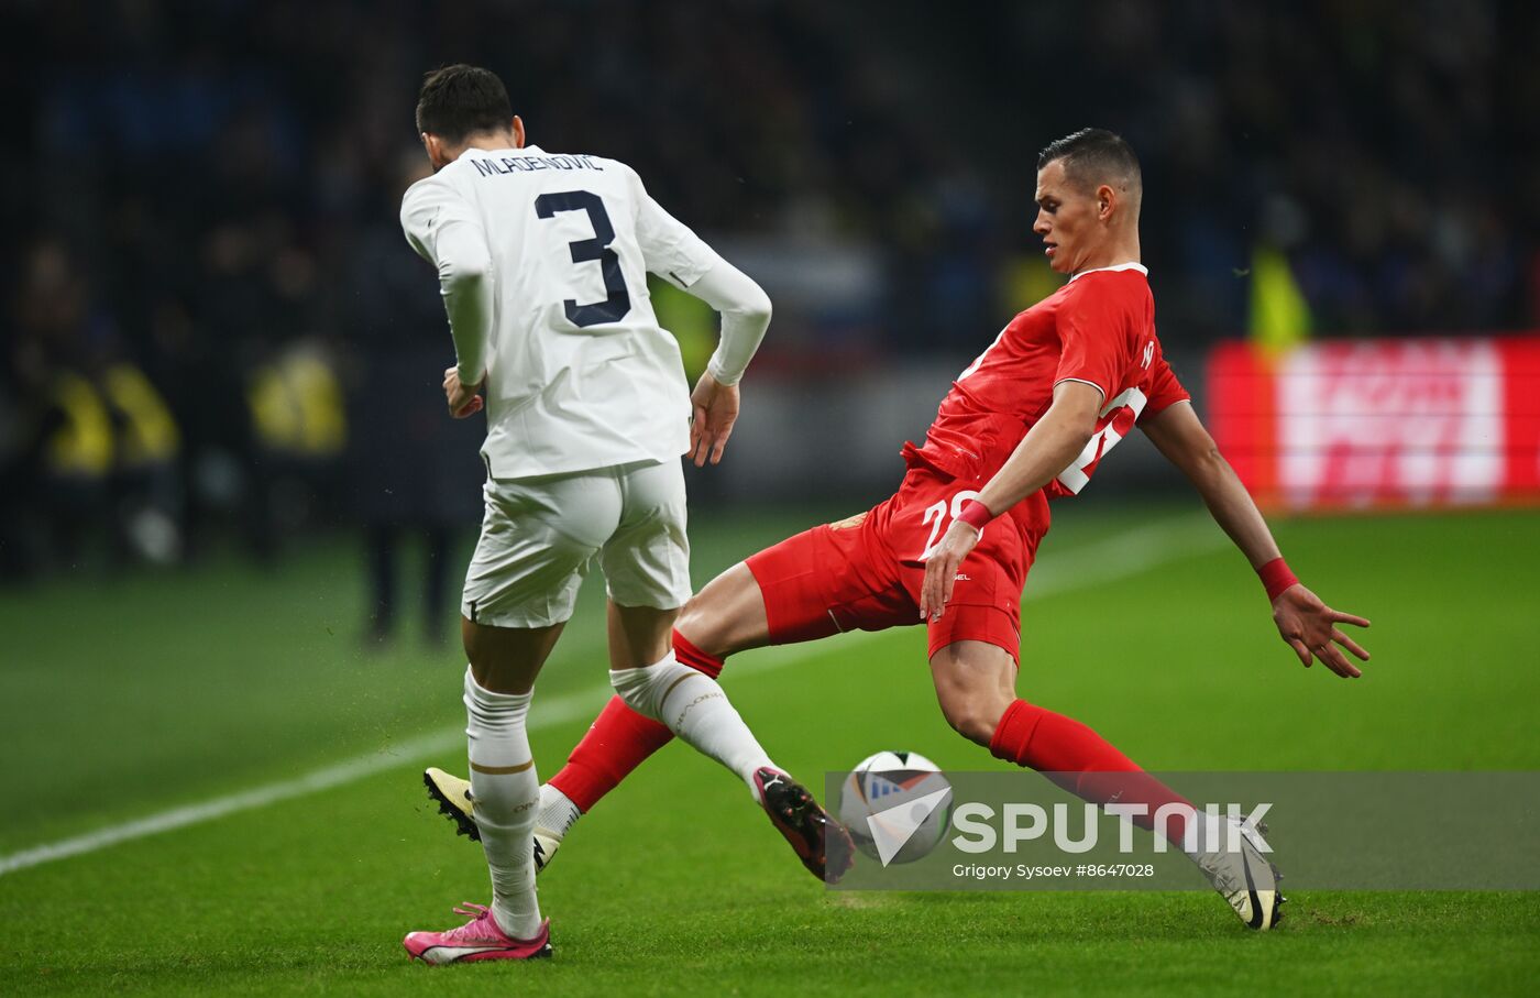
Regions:
[[0, 18], [0, 576], [92, 545], [179, 561], [231, 528], [270, 558], [317, 519], [367, 525], [388, 567], [400, 531], [440, 550], [474, 522], [476, 430], [440, 414], [442, 306], [397, 223], [425, 169], [416, 86], [445, 62], [496, 69], [533, 142], [633, 163], [745, 260], [858, 260], [862, 296], [787, 279], [812, 300], [778, 308], [768, 368], [830, 345], [975, 353], [1055, 286], [1036, 149], [1089, 123], [1143, 157], [1172, 343], [1246, 333], [1260, 251], [1284, 254], [1317, 334], [1540, 325], [1523, 2], [15, 0]]

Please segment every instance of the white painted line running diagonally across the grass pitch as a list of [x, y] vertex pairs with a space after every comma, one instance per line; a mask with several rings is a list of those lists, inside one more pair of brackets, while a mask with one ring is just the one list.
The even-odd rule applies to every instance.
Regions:
[[[1206, 550], [1218, 547], [1224, 534], [1207, 516], [1181, 516], [1158, 521], [1144, 527], [1137, 527], [1104, 541], [1095, 541], [1066, 553], [1061, 558], [1049, 554], [1047, 562], [1032, 568], [1032, 579], [1027, 584], [1026, 598], [1041, 599], [1058, 593], [1089, 588], [1113, 579], [1123, 579], [1163, 565], [1180, 561]], [[875, 638], [879, 631], [852, 631], [836, 638], [838, 642], [850, 644]], [[886, 631], [881, 631], [886, 633]], [[756, 675], [790, 665], [813, 655], [822, 655], [829, 648], [822, 644], [779, 645], [755, 651], [753, 656], [728, 670], [728, 678]], [[530, 730], [541, 730], [568, 721], [584, 718], [610, 696], [610, 687], [593, 687], [548, 701], [536, 701], [537, 707], [530, 716]], [[217, 796], [202, 804], [172, 807], [146, 818], [125, 821], [108, 826], [97, 832], [77, 835], [57, 842], [46, 842], [32, 849], [0, 856], [0, 876], [26, 870], [29, 867], [68, 859], [85, 853], [99, 852], [120, 842], [148, 838], [162, 832], [172, 832], [188, 826], [214, 821], [245, 810], [268, 807], [280, 801], [288, 801], [311, 793], [320, 793], [333, 787], [340, 787], [374, 773], [399, 769], [428, 756], [450, 752], [465, 744], [465, 733], [459, 728], [434, 732], [410, 738], [388, 748], [354, 756], [336, 765], [313, 770], [294, 779], [283, 779], [262, 787], [253, 787], [240, 793]]]

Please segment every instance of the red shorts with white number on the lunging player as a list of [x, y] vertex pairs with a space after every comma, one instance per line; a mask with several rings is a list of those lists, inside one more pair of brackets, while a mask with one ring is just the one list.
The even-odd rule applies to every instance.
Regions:
[[[922, 558], [975, 494], [939, 473], [912, 468], [898, 493], [869, 511], [750, 556], [744, 564], [764, 593], [770, 641], [919, 624]], [[1018, 658], [1021, 588], [1047, 524], [1047, 499], [1036, 493], [984, 527], [958, 570], [946, 613], [927, 624], [927, 656], [955, 641], [986, 641]]]

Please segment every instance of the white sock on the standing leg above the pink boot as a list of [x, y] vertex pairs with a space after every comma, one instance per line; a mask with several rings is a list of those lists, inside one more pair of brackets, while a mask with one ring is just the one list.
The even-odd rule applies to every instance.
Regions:
[[541, 779], [525, 733], [530, 693], [493, 693], [465, 670], [465, 713], [470, 722], [471, 796], [476, 827], [491, 869], [491, 912], [516, 939], [541, 930], [541, 906], [534, 899], [534, 805]]

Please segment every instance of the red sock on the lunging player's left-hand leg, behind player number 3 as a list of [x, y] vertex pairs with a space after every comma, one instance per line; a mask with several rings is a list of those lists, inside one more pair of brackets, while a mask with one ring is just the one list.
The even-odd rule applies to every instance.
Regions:
[[[722, 659], [701, 651], [673, 633], [675, 658], [716, 679], [722, 673]], [[551, 776], [550, 784], [567, 795], [578, 810], [588, 810], [614, 790], [622, 779], [673, 739], [667, 725], [644, 718], [625, 705], [619, 696], [611, 696], [593, 725], [567, 756], [567, 765]]]

